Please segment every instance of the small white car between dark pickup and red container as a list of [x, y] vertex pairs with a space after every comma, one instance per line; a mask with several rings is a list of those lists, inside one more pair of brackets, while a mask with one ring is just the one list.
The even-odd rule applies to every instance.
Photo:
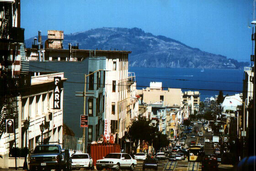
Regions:
[[71, 157], [71, 160], [72, 160], [72, 162], [71, 162], [72, 168], [75, 168], [75, 169], [80, 169], [80, 168], [92, 169], [92, 168], [94, 168], [91, 155], [89, 155], [87, 153], [73, 154]]

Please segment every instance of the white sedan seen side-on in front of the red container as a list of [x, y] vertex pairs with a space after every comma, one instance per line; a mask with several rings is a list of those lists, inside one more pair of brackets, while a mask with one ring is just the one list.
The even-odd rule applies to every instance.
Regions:
[[137, 160], [127, 153], [109, 153], [101, 160], [96, 161], [96, 169], [101, 171], [104, 168], [120, 170], [121, 167], [130, 168], [131, 171], [137, 165]]

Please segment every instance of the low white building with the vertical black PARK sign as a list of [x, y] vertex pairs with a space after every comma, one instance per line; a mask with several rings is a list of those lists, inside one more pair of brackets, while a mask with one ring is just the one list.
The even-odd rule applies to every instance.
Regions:
[[[30, 74], [30, 73], [28, 73]], [[24, 129], [24, 121], [29, 121], [27, 130], [27, 147], [30, 151], [38, 144], [56, 142], [62, 144], [62, 124], [63, 124], [63, 96], [64, 88], [63, 81], [64, 73], [33, 73], [34, 76], [27, 76], [28, 82], [26, 87], [20, 91], [17, 101], [17, 117], [15, 122], [14, 133], [6, 131], [0, 138], [0, 167], [9, 168], [15, 167], [14, 158], [9, 156], [12, 147], [23, 148], [26, 144], [26, 131]], [[56, 90], [54, 77], [59, 77], [59, 109], [53, 109], [54, 100], [53, 94]], [[40, 125], [44, 124], [43, 137], [40, 131]], [[15, 138], [16, 139], [15, 139]], [[18, 167], [23, 166], [24, 158], [17, 159]]]

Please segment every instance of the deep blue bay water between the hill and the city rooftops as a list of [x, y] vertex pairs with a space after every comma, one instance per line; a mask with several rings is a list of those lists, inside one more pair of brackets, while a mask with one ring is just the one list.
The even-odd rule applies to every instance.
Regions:
[[162, 82], [167, 88], [181, 88], [182, 91], [199, 91], [201, 101], [223, 91], [234, 95], [243, 90], [243, 70], [195, 69], [195, 68], [141, 68], [129, 67], [136, 75], [137, 89], [149, 87], [151, 81]]

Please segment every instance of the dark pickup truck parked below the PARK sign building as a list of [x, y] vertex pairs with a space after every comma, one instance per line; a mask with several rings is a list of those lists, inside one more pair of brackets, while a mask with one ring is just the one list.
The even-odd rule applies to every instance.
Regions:
[[71, 162], [69, 151], [62, 150], [59, 145], [39, 145], [36, 146], [29, 161], [30, 171], [46, 170], [69, 171]]

